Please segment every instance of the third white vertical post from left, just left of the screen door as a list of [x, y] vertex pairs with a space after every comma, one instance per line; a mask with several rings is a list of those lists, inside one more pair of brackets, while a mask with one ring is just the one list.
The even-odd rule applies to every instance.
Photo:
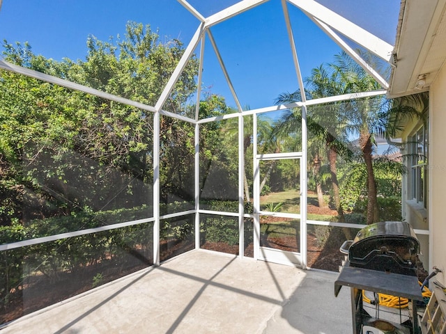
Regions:
[[245, 152], [244, 152], [244, 129], [243, 115], [238, 115], [238, 254], [240, 257], [245, 256], [245, 202], [243, 193], [245, 192]]

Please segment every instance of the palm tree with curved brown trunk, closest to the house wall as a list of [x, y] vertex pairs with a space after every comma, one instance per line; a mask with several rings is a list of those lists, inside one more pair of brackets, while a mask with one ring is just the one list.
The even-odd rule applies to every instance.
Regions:
[[[332, 84], [340, 94], [367, 92], [380, 88], [376, 80], [344, 51], [334, 57], [334, 63], [328, 64], [328, 67]], [[371, 54], [363, 54], [363, 58], [368, 58], [369, 63], [378, 63]], [[350, 100], [345, 104], [343, 113], [348, 119], [345, 134], [357, 136], [367, 170], [367, 224], [379, 220], [373, 159], [376, 136], [391, 138], [403, 129], [408, 118], [420, 116], [420, 111], [427, 106], [426, 95], [401, 97], [396, 100], [386, 100], [385, 97], [378, 96]]]

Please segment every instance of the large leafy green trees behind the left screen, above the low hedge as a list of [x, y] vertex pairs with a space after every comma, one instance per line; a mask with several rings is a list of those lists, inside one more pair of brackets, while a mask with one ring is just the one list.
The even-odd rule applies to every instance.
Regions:
[[[26, 43], [6, 41], [3, 54], [17, 65], [151, 105], [183, 54], [179, 40], [163, 44], [150, 26], [134, 22], [128, 23], [123, 39], [102, 42], [91, 36], [87, 45], [85, 61], [56, 62], [35, 56]], [[185, 110], [196, 73], [192, 58], [164, 108]], [[151, 203], [151, 113], [3, 70], [0, 94], [3, 225], [13, 219]], [[178, 150], [190, 142], [190, 127], [164, 120], [161, 134], [165, 157], [185, 155]], [[190, 173], [178, 171], [190, 164], [165, 166], [166, 175]], [[28, 216], [22, 207], [31, 208]]]

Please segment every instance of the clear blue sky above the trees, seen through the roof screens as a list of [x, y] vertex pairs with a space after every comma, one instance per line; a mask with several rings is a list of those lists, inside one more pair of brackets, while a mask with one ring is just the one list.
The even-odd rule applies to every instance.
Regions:
[[[206, 17], [237, 1], [188, 2]], [[399, 0], [318, 2], [393, 44]], [[280, 93], [297, 88], [281, 9], [279, 0], [270, 0], [211, 29], [242, 106], [269, 106]], [[312, 68], [332, 61], [340, 49], [300, 10], [289, 6], [289, 11], [305, 77]], [[47, 58], [84, 59], [89, 35], [100, 40], [123, 36], [129, 20], [151, 24], [162, 40], [179, 38], [185, 45], [199, 24], [176, 0], [3, 0], [0, 38], [10, 43], [28, 41], [35, 54]], [[208, 40], [203, 68], [203, 86], [235, 105]]]

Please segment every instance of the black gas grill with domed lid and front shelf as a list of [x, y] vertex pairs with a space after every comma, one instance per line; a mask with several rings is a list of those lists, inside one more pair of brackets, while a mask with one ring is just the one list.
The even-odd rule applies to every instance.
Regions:
[[357, 232], [355, 239], [345, 241], [340, 250], [346, 261], [334, 283], [334, 294], [337, 296], [344, 285], [351, 287], [353, 333], [360, 334], [380, 320], [364, 310], [363, 290], [409, 299], [408, 320], [392, 326], [401, 330], [398, 333], [420, 333], [417, 305], [413, 303], [422, 301], [417, 278], [420, 242], [411, 226], [401, 221], [367, 225]]

